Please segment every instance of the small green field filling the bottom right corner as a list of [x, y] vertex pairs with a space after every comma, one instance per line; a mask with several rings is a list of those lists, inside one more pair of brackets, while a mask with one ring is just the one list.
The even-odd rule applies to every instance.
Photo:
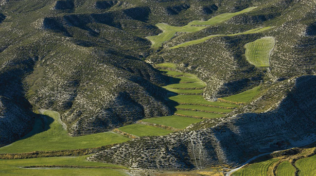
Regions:
[[298, 176], [316, 176], [316, 155], [298, 159], [295, 165], [299, 169]]

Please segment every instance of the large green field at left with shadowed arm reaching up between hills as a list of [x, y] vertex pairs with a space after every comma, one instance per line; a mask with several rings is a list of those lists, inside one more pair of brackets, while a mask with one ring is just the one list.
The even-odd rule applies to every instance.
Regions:
[[60, 121], [58, 112], [46, 110], [43, 114], [46, 116], [36, 119], [34, 128], [29, 134], [11, 145], [1, 147], [0, 153], [92, 148], [129, 140], [113, 132], [70, 137], [58, 122]]

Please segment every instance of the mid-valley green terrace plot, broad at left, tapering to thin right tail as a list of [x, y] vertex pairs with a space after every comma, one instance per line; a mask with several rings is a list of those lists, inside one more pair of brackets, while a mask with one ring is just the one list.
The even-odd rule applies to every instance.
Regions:
[[209, 102], [204, 99], [201, 95], [176, 95], [169, 97], [170, 100], [176, 101], [178, 103], [188, 103], [188, 104], [201, 104], [201, 105], [211, 105], [211, 106], [223, 106], [223, 107], [238, 107], [238, 105], [233, 105], [224, 102]]

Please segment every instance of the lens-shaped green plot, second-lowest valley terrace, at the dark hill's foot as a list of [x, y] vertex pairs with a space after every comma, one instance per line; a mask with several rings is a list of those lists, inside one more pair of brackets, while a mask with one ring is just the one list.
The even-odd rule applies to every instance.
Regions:
[[180, 117], [180, 116], [164, 116], [164, 117], [143, 119], [141, 121], [162, 124], [162, 125], [171, 126], [178, 129], [184, 129], [192, 123], [198, 123], [203, 120], [193, 119], [193, 118], [188, 118], [188, 117]]

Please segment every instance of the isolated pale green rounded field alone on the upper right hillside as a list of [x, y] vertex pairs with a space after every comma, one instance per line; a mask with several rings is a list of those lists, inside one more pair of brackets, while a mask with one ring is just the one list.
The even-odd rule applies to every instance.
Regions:
[[274, 46], [274, 37], [263, 37], [247, 43], [245, 45], [247, 61], [256, 67], [269, 67], [270, 55]]

